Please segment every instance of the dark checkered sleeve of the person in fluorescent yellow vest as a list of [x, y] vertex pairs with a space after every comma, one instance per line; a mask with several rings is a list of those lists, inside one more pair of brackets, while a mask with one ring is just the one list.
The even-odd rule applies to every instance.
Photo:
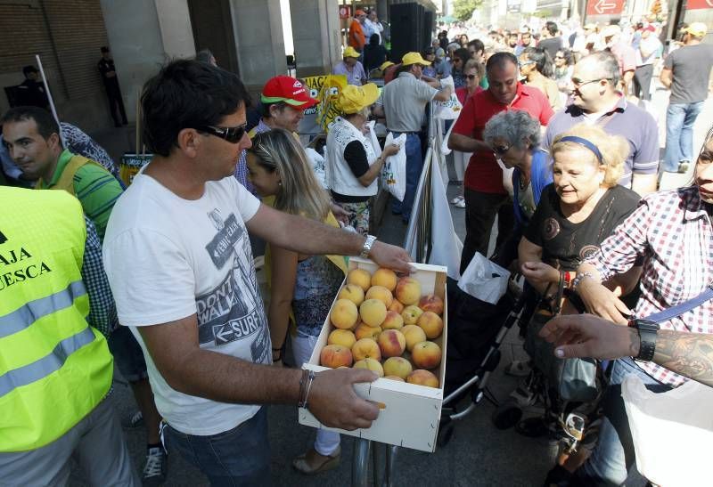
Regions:
[[98, 329], [104, 337], [119, 325], [117, 306], [109, 288], [109, 280], [102, 263], [102, 242], [96, 233], [94, 223], [84, 217], [86, 222], [86, 242], [84, 248], [84, 263], [82, 264], [82, 280], [89, 296], [89, 315], [86, 322]]

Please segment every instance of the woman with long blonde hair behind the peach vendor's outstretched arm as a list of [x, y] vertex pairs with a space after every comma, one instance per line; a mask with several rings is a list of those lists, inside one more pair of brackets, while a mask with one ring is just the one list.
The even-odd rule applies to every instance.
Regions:
[[[294, 136], [280, 128], [258, 134], [247, 150], [248, 178], [261, 197], [275, 197], [274, 207], [292, 215], [339, 227], [330, 212], [329, 195], [316, 180], [305, 151]], [[330, 306], [347, 272], [343, 256], [304, 256], [269, 246], [266, 272], [270, 286], [267, 321], [273, 362], [283, 360], [290, 323], [292, 353], [299, 368], [309, 360]], [[305, 474], [337, 467], [340, 435], [317, 431], [314, 447], [292, 461]]]

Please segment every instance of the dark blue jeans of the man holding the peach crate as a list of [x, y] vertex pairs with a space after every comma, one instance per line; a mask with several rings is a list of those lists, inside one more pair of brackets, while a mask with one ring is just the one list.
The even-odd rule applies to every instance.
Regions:
[[267, 410], [229, 431], [195, 436], [163, 429], [169, 454], [179, 453], [208, 476], [210, 485], [271, 485], [270, 444], [267, 441]]

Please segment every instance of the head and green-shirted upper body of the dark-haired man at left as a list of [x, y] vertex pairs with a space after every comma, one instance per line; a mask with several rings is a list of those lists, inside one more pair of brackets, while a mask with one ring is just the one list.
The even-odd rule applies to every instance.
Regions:
[[76, 196], [103, 239], [111, 208], [122, 193], [119, 181], [98, 162], [64, 149], [57, 121], [47, 110], [16, 107], [1, 123], [7, 150], [25, 179], [37, 180], [39, 190]]

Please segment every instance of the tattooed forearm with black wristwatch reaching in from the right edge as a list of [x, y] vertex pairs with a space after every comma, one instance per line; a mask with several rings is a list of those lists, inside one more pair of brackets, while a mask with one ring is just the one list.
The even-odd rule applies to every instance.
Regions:
[[[635, 329], [615, 325], [591, 314], [561, 315], [549, 321], [540, 336], [556, 345], [560, 358], [618, 359], [639, 354]], [[713, 387], [713, 335], [661, 329], [653, 361], [684, 377]]]

